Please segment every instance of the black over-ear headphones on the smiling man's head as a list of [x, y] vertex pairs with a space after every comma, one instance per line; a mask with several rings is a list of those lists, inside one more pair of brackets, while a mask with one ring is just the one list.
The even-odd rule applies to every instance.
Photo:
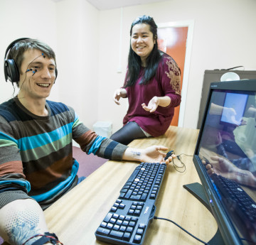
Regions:
[[[14, 40], [10, 45], [6, 48], [6, 53], [4, 55], [4, 77], [7, 82], [9, 80], [10, 82], [18, 82], [19, 81], [19, 71], [18, 66], [16, 65], [16, 62], [13, 59], [7, 59], [7, 54], [9, 53], [9, 50], [14, 47], [16, 43], [18, 43], [21, 40], [26, 40], [30, 38], [18, 38]], [[58, 75], [58, 70], [55, 68], [55, 80]]]

